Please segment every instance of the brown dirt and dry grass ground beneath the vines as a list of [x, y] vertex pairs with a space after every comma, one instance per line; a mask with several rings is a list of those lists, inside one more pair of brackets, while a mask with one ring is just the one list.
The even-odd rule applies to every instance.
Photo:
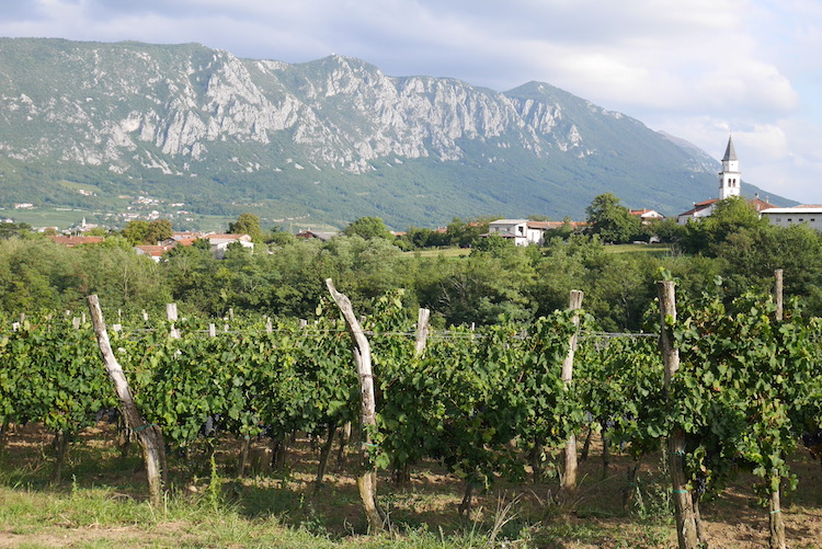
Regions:
[[[338, 466], [332, 457], [323, 488], [315, 496], [319, 450], [313, 450], [307, 439], [298, 439], [289, 449], [286, 470], [251, 471], [241, 480], [232, 478], [237, 444], [222, 441], [218, 448], [224, 494], [249, 521], [270, 513], [282, 516], [285, 526], [313, 525], [343, 545], [346, 539], [364, 531], [356, 483], [351, 472], [352, 450], [349, 450], [344, 465]], [[594, 437], [589, 459], [580, 462], [580, 487], [572, 502], [556, 503], [556, 478], [518, 484], [500, 480], [477, 495], [468, 522], [488, 527], [499, 516], [500, 502], [504, 505], [515, 500], [509, 518], [511, 525], [521, 528], [520, 536], [527, 533], [528, 539], [521, 538], [526, 547], [675, 547], [674, 526], [664, 506], [666, 484], [660, 472], [660, 456], [649, 456], [643, 460], [637, 478], [640, 491], [633, 499], [631, 513], [626, 516], [623, 491], [627, 485], [626, 472], [631, 467], [630, 458], [613, 454], [610, 465], [603, 473], [601, 455], [602, 444]], [[57, 487], [47, 483], [52, 459], [48, 433], [33, 424], [19, 427], [8, 437], [0, 457], [0, 483], [11, 489], [8, 492], [11, 494], [20, 493], [21, 489], [14, 488], [20, 485], [26, 485], [26, 492], [57, 496], [64, 496], [68, 490], [105, 485], [113, 487], [119, 494], [117, 496], [126, 500], [141, 501], [145, 497], [142, 473], [136, 470], [139, 449], [134, 447], [129, 460], [121, 461], [116, 432], [110, 425], [100, 424], [78, 437], [70, 450], [64, 481]], [[208, 490], [207, 462], [192, 465], [178, 456], [170, 456], [170, 459], [178, 492], [182, 496], [202, 497]], [[799, 478], [799, 487], [783, 496], [789, 547], [822, 548], [822, 467], [800, 448], [791, 459], [791, 469]], [[740, 473], [717, 500], [701, 505], [711, 548], [767, 547], [768, 513], [756, 505], [752, 489], [755, 481], [754, 477]], [[380, 473], [378, 493], [392, 521], [406, 528], [426, 525], [432, 531], [442, 528], [446, 533], [466, 528], [466, 521], [460, 521], [457, 511], [463, 483], [438, 464], [426, 462], [414, 469], [407, 488], [396, 487], [388, 472]], [[11, 503], [0, 500], [0, 508]], [[0, 524], [9, 525], [9, 521], [7, 518]], [[183, 547], [203, 542], [191, 533], [187, 523], [174, 521], [163, 523], [160, 530], [147, 530], [139, 524], [75, 525], [71, 521], [54, 519], [32, 530], [26, 531], [26, 528], [13, 524], [0, 527], [0, 548]]]

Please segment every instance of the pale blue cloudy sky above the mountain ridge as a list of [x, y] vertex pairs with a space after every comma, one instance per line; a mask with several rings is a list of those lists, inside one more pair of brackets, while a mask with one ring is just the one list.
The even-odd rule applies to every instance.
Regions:
[[732, 135], [745, 182], [822, 204], [820, 0], [4, 0], [0, 36], [338, 54], [496, 91], [537, 80], [717, 160]]

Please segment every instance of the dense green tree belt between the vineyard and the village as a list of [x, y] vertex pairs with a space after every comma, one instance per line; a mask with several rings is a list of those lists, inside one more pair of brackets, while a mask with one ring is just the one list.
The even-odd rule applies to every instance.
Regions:
[[[592, 207], [597, 203], [613, 201]], [[455, 219], [447, 231], [426, 236], [472, 244], [466, 256], [453, 258], [404, 252], [416, 248], [423, 231], [392, 237], [377, 218], [354, 222], [327, 242], [265, 235], [255, 222], [246, 217], [235, 224], [254, 232], [253, 253], [238, 248], [216, 260], [207, 245], [195, 244], [171, 250], [160, 263], [136, 255], [130, 245], [138, 238], [128, 231], [75, 249], [31, 231], [7, 231], [0, 239], [0, 310], [79, 309], [83, 296], [94, 293], [104, 306], [123, 310], [162, 310], [175, 301], [191, 314], [222, 316], [232, 308], [312, 318], [331, 277], [365, 308], [388, 289], [406, 288], [407, 305], [432, 309], [442, 324], [528, 321], [564, 308], [576, 288], [604, 329], [638, 330], [659, 268], [694, 295], [721, 276], [729, 299], [742, 288], [769, 288], [774, 270], [784, 268], [786, 291], [804, 298], [810, 313], [822, 313], [820, 236], [804, 226], [773, 227], [741, 199], [720, 203], [703, 221], [657, 226], [671, 242], [661, 254], [613, 253], [595, 224], [590, 233], [557, 231], [544, 247], [515, 248], [501, 238], [480, 238], [487, 220]]]

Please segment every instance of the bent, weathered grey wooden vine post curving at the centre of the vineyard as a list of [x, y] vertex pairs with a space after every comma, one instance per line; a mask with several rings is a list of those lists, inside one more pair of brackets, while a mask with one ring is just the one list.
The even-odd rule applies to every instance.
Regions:
[[344, 294], [336, 291], [331, 278], [326, 279], [331, 298], [345, 319], [345, 325], [354, 343], [354, 364], [359, 378], [359, 471], [357, 474], [357, 488], [359, 497], [363, 500], [363, 508], [368, 519], [372, 531], [386, 529], [388, 519], [377, 504], [377, 468], [368, 458], [368, 449], [373, 447], [372, 433], [377, 430], [377, 411], [374, 398], [374, 375], [372, 373], [372, 350], [368, 339], [363, 332], [351, 300]]

